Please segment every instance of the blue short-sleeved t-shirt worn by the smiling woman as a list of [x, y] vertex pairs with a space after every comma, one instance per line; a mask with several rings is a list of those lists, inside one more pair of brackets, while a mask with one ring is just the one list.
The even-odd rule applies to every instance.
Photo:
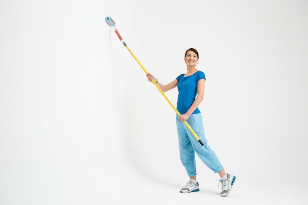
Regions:
[[[197, 96], [197, 83], [201, 79], [205, 79], [204, 72], [198, 70], [194, 74], [184, 77], [185, 74], [179, 75], [176, 79], [178, 83], [178, 102], [177, 110], [181, 115], [185, 114], [192, 105]], [[200, 110], [196, 110], [192, 114], [200, 113]]]

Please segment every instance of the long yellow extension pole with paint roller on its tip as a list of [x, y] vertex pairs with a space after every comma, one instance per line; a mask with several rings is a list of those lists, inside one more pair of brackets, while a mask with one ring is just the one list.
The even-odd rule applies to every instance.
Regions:
[[[133, 52], [128, 48], [128, 46], [126, 45], [126, 43], [124, 42], [124, 40], [122, 39], [120, 33], [118, 32], [118, 29], [115, 28], [115, 22], [109, 17], [106, 17], [106, 22], [114, 28], [117, 36], [119, 37], [120, 41], [123, 43], [123, 45], [125, 46], [125, 48], [129, 51], [129, 53], [132, 55], [132, 57], [138, 62], [138, 64], [140, 65], [140, 67], [143, 69], [143, 71], [146, 74], [149, 74], [149, 72], [145, 69], [145, 67], [141, 64], [141, 62], [137, 59], [137, 57], [133, 54]], [[161, 88], [159, 88], [159, 86], [157, 85], [157, 83], [154, 81], [154, 79], [152, 79], [152, 83], [154, 83], [155, 87], [160, 91], [160, 93], [165, 97], [165, 99], [168, 101], [168, 103], [171, 105], [171, 107], [173, 108], [173, 110], [178, 114], [178, 116], [181, 116], [181, 114], [179, 113], [179, 111], [176, 109], [176, 107], [171, 103], [171, 101], [168, 99], [168, 97], [166, 96], [166, 94], [161, 90]], [[190, 132], [193, 134], [193, 136], [197, 139], [197, 141], [201, 144], [201, 146], [204, 146], [203, 142], [200, 140], [200, 138], [196, 135], [196, 133], [193, 131], [193, 129], [189, 126], [189, 124], [185, 121], [184, 124], [186, 125], [186, 127], [190, 130]]]

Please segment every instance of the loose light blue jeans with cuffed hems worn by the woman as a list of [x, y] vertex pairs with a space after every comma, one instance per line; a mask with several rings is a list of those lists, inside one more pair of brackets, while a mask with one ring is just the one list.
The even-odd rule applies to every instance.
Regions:
[[211, 149], [208, 145], [208, 141], [205, 139], [201, 113], [192, 114], [186, 122], [200, 138], [204, 146], [201, 146], [187, 126], [179, 120], [178, 115], [176, 121], [179, 137], [180, 158], [188, 176], [190, 177], [197, 175], [195, 153], [197, 153], [201, 161], [208, 168], [213, 170], [214, 173], [218, 173], [223, 170], [223, 166], [221, 165], [215, 152]]

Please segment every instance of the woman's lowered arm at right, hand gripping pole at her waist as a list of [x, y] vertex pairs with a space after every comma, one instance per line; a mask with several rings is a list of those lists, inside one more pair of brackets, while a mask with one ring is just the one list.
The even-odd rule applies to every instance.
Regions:
[[187, 112], [179, 117], [179, 120], [181, 122], [185, 122], [188, 119], [188, 117], [197, 109], [197, 107], [202, 102], [203, 96], [204, 96], [204, 82], [205, 82], [205, 79], [200, 79], [198, 81], [198, 83], [197, 83], [197, 97], [193, 101], [192, 105], [187, 110]]

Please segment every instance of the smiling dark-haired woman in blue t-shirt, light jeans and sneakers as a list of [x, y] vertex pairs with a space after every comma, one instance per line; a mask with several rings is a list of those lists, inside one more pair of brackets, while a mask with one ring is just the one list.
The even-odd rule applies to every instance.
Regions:
[[[215, 152], [210, 148], [204, 135], [202, 116], [198, 106], [203, 100], [205, 74], [196, 69], [196, 64], [199, 60], [199, 54], [196, 49], [190, 48], [185, 52], [185, 63], [187, 72], [179, 75], [174, 81], [167, 85], [163, 85], [152, 75], [147, 74], [148, 81], [154, 81], [163, 92], [178, 87], [179, 95], [177, 101], [177, 110], [181, 116], [177, 115], [177, 131], [179, 138], [179, 149], [181, 162], [185, 167], [186, 173], [189, 176], [189, 181], [185, 187], [181, 189], [182, 193], [190, 193], [199, 191], [199, 183], [196, 179], [196, 163], [195, 153], [199, 156], [203, 163], [214, 173], [218, 173], [221, 183], [222, 197], [227, 196], [234, 183], [235, 176], [226, 174], [223, 166], [219, 162]], [[194, 135], [187, 128], [184, 122], [187, 122], [195, 134], [204, 143], [201, 146], [195, 139]]]

